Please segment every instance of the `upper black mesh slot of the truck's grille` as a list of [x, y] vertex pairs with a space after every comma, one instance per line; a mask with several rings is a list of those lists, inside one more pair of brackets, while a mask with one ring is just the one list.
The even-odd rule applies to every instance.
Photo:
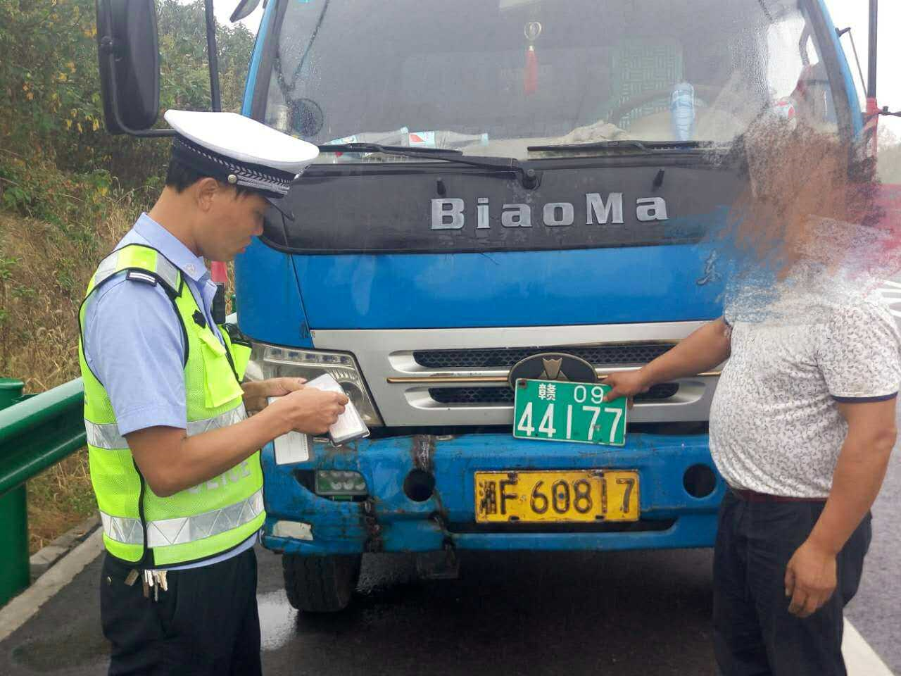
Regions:
[[[630, 343], [589, 347], [491, 347], [477, 350], [416, 350], [414, 361], [426, 369], [509, 369], [542, 352], [566, 352], [595, 368], [646, 364], [673, 347], [670, 343]], [[512, 401], [513, 399], [511, 399]]]

